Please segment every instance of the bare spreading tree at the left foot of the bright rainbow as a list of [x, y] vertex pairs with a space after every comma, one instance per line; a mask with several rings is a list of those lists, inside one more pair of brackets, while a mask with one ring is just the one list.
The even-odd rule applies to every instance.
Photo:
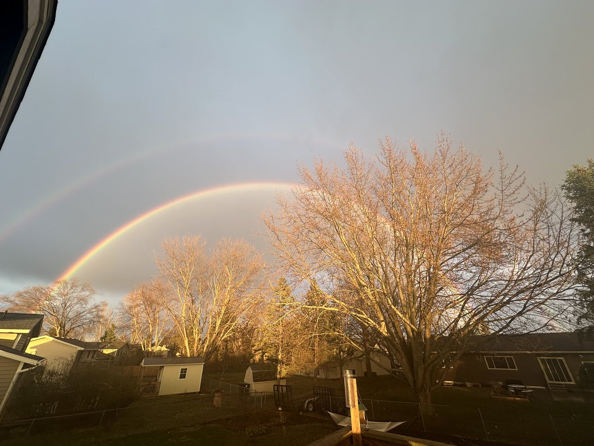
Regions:
[[95, 291], [77, 279], [64, 279], [49, 287], [27, 287], [0, 301], [15, 312], [43, 314], [46, 332], [62, 337], [80, 337], [96, 328], [107, 306], [94, 301]]

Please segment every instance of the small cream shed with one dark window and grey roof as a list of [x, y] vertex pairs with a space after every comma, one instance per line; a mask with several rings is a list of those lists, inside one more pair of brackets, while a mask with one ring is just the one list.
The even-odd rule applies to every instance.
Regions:
[[[143, 385], [144, 395], [174, 395], [200, 391], [204, 359], [194, 357], [150, 357], [140, 363], [142, 369], [159, 368], [156, 379]], [[142, 379], [141, 371], [141, 379]]]

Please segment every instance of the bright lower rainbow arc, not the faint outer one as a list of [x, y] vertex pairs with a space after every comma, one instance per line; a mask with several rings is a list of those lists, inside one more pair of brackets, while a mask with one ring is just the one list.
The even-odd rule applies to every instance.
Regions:
[[209, 196], [215, 196], [217, 194], [223, 193], [232, 193], [237, 191], [245, 191], [245, 190], [261, 190], [261, 189], [287, 189], [292, 185], [289, 183], [240, 183], [240, 184], [227, 184], [226, 186], [219, 186], [213, 187], [211, 189], [200, 190], [196, 192], [192, 192], [181, 197], [177, 197], [169, 202], [163, 203], [162, 205], [157, 206], [156, 208], [150, 209], [150, 211], [144, 212], [143, 214], [137, 216], [136, 218], [132, 219], [131, 221], [127, 222], [123, 226], [119, 227], [107, 237], [100, 240], [96, 243], [93, 247], [91, 247], [87, 252], [85, 252], [81, 257], [79, 257], [72, 265], [70, 265], [60, 277], [56, 280], [61, 281], [64, 279], [68, 279], [78, 271], [85, 263], [87, 263], [93, 256], [99, 253], [103, 248], [108, 246], [108, 244], [112, 243], [112, 241], [116, 240], [122, 234], [126, 233], [127, 231], [131, 230], [135, 226], [141, 224], [143, 221], [151, 218], [151, 216], [156, 215], [157, 213], [166, 211], [171, 209], [175, 206], [181, 205], [184, 202], [188, 202], [192, 199], [197, 198], [206, 198]]

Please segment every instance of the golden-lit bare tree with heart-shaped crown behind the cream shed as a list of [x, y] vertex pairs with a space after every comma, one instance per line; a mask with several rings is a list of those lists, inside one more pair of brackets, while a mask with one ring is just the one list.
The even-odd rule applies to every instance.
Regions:
[[261, 296], [260, 255], [244, 241], [221, 240], [207, 249], [201, 237], [163, 242], [157, 266], [168, 285], [163, 300], [185, 354], [210, 359], [251, 316]]

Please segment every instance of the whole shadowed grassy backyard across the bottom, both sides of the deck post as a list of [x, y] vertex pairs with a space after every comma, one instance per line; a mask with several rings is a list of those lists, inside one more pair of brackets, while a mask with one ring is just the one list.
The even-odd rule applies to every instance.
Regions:
[[[56, 446], [197, 441], [297, 446], [336, 430], [321, 413], [279, 412], [271, 395], [262, 399], [241, 396], [238, 392], [242, 390], [236, 385], [243, 378], [243, 372], [207, 373], [203, 378], [204, 396], [140, 398], [118, 411], [36, 420], [10, 430], [0, 428], [0, 436], [11, 438], [2, 444], [29, 444], [34, 438], [43, 438], [45, 444]], [[443, 387], [435, 392], [433, 406], [420, 407], [410, 389], [390, 376], [357, 381], [369, 419], [410, 420], [405, 432], [397, 433], [465, 445], [572, 445], [586, 444], [594, 436], [592, 401], [555, 401], [545, 390], [536, 391], [529, 401], [493, 398], [488, 388]], [[292, 387], [294, 399], [303, 402], [312, 395], [314, 379], [292, 376], [287, 384]], [[341, 404], [342, 380], [317, 379], [315, 384], [334, 387], [336, 404]], [[211, 391], [216, 388], [223, 389], [222, 407], [213, 407]]]

